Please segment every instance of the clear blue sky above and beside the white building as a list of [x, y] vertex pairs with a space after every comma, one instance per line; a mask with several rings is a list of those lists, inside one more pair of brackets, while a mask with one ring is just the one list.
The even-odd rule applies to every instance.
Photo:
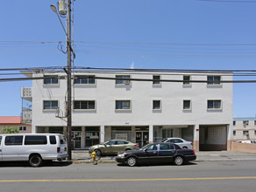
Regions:
[[[0, 69], [67, 65], [56, 3], [1, 2]], [[254, 70], [255, 9], [256, 0], [75, 0], [75, 66]], [[20, 115], [20, 88], [31, 86], [0, 82], [0, 116]], [[234, 84], [234, 117], [256, 115], [255, 86]]]

